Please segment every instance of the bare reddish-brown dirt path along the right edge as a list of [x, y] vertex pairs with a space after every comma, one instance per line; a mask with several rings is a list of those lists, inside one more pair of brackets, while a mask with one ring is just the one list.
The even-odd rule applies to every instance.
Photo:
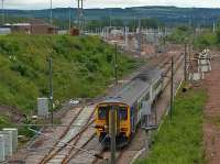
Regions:
[[213, 61], [212, 72], [204, 83], [208, 91], [205, 108], [204, 144], [207, 164], [220, 164], [220, 62]]

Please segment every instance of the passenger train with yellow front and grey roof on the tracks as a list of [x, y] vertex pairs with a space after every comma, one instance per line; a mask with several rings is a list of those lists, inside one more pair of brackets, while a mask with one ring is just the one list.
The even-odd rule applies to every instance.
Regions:
[[162, 92], [162, 70], [146, 70], [96, 106], [96, 131], [100, 142], [110, 141], [110, 110], [114, 108], [117, 143], [129, 143], [144, 116], [151, 114], [152, 106]]

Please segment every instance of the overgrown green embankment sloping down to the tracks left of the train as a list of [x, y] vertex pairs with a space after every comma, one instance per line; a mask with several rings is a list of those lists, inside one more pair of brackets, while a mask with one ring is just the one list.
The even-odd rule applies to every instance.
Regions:
[[[0, 105], [32, 114], [36, 98], [48, 96], [48, 62], [53, 55], [54, 101], [92, 98], [103, 94], [113, 78], [114, 47], [95, 36], [0, 36]], [[119, 54], [119, 76], [136, 67]], [[2, 114], [3, 113], [3, 114]], [[10, 125], [11, 113], [0, 111], [0, 128]]]

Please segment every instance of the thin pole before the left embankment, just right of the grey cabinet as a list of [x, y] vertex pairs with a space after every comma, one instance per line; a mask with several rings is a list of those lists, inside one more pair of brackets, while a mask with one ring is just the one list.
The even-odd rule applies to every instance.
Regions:
[[54, 123], [54, 109], [53, 109], [53, 57], [48, 59], [50, 67], [50, 110], [51, 110], [51, 122]]

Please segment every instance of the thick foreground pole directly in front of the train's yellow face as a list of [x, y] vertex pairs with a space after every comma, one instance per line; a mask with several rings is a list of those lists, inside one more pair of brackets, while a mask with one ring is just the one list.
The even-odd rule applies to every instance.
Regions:
[[111, 130], [110, 130], [110, 136], [111, 136], [111, 164], [116, 164], [116, 106], [112, 106], [110, 109], [110, 117], [111, 117]]

